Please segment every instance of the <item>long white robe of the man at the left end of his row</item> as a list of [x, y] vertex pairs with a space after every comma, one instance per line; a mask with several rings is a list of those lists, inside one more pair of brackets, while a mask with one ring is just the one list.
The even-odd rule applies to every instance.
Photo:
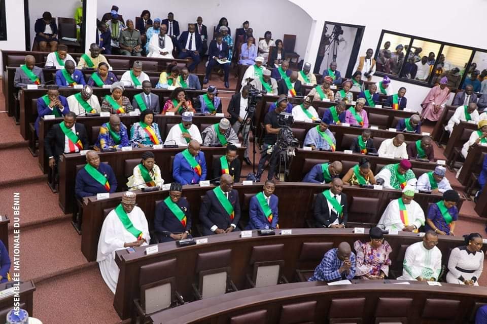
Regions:
[[[148, 242], [151, 239], [149, 225], [142, 209], [135, 206], [127, 216], [133, 226], [143, 232], [142, 237], [146, 242], [142, 246], [149, 245]], [[107, 215], [107, 218], [105, 218], [105, 221], [103, 221], [103, 226], [101, 227], [96, 261], [98, 262], [103, 280], [105, 280], [105, 283], [114, 294], [120, 272], [118, 265], [115, 263], [115, 252], [126, 249], [123, 247], [125, 243], [136, 240], [137, 238], [125, 229], [117, 213], [115, 213], [115, 209], [112, 210]]]

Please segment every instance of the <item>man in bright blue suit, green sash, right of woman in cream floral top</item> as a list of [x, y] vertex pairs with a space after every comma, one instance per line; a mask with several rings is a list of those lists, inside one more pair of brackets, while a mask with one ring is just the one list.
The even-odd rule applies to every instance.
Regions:
[[187, 149], [176, 154], [172, 164], [172, 177], [183, 185], [206, 180], [206, 161], [198, 141], [191, 140]]

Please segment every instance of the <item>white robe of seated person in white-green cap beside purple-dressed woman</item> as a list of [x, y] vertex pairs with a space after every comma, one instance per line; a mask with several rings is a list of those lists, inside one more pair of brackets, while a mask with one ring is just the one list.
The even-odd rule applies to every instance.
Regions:
[[386, 230], [392, 229], [397, 231], [402, 231], [404, 227], [409, 225], [414, 225], [416, 228], [423, 226], [425, 224], [425, 212], [420, 204], [414, 200], [411, 200], [410, 204], [404, 204], [407, 211], [408, 224], [402, 222], [399, 214], [399, 199], [402, 198], [391, 200], [384, 214], [380, 217], [378, 224], [384, 225]]

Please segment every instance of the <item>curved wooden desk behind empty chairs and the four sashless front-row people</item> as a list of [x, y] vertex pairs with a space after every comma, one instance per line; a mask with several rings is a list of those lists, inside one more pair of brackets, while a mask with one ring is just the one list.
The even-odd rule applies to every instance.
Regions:
[[[290, 281], [294, 281], [296, 269], [314, 269], [321, 260], [315, 262], [300, 261], [301, 249], [304, 242], [330, 242], [331, 247], [337, 247], [342, 241], [348, 242], [353, 246], [356, 240], [368, 241], [368, 230], [364, 234], [354, 234], [353, 228], [346, 229], [292, 229], [291, 235], [279, 235], [280, 230], [276, 230], [275, 236], [258, 236], [256, 231], [250, 238], [240, 238], [239, 233], [228, 233], [225, 235], [207, 236], [207, 244], [193, 245], [184, 248], [177, 248], [175, 242], [166, 242], [158, 245], [158, 253], [145, 255], [145, 247], [135, 248], [135, 253], [129, 254], [126, 250], [116, 252], [115, 261], [120, 268], [117, 289], [115, 292], [114, 307], [119, 316], [125, 319], [131, 315], [133, 299], [138, 298], [140, 291], [138, 278], [140, 267], [160, 261], [176, 259], [177, 275], [176, 290], [183, 296], [185, 301], [191, 301], [191, 284], [195, 278], [196, 260], [199, 254], [217, 250], [232, 250], [231, 254], [231, 278], [241, 290], [245, 288], [246, 274], [251, 271], [249, 260], [254, 247], [266, 245], [284, 245], [283, 275]], [[385, 239], [392, 247], [389, 258], [392, 260], [390, 270], [402, 270], [402, 261], [407, 247], [420, 241], [418, 235], [414, 233], [400, 232], [398, 235], [385, 235]], [[464, 245], [461, 237], [439, 235], [438, 249], [442, 252], [442, 263], [448, 261], [449, 250]], [[486, 247], [487, 248], [487, 247]], [[311, 285], [311, 284], [309, 284]], [[339, 289], [344, 289], [340, 286]], [[353, 287], [353, 286], [352, 286]], [[402, 290], [403, 287], [393, 285], [396, 289]], [[458, 286], [459, 287], [459, 286]], [[273, 289], [273, 287], [266, 287]], [[245, 290], [250, 292], [250, 290]], [[469, 291], [475, 291], [471, 289]], [[475, 292], [475, 294], [477, 294]], [[235, 296], [233, 293], [228, 296]], [[190, 303], [191, 305], [192, 303]], [[227, 323], [227, 322], [226, 322]]]

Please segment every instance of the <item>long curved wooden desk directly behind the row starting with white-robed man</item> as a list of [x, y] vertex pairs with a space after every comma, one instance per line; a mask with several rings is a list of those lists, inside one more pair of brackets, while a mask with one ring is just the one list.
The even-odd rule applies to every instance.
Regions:
[[[102, 158], [103, 160], [103, 158]], [[156, 157], [157, 160], [157, 157]], [[263, 183], [255, 183], [251, 186], [235, 184], [238, 191], [240, 206], [242, 207], [241, 223], [246, 225], [248, 219], [248, 206], [250, 198], [262, 191]], [[276, 184], [275, 194], [279, 197], [279, 225], [280, 228], [306, 227], [306, 220], [313, 218], [314, 200], [316, 194], [328, 189], [329, 184], [314, 184], [302, 182], [281, 182]], [[197, 232], [201, 196], [211, 187], [199, 187], [198, 185], [184, 186], [183, 194], [188, 200], [192, 214], [193, 234]], [[149, 222], [149, 228], [154, 227], [155, 202], [163, 200], [167, 192], [137, 192], [137, 205], [140, 207]], [[399, 190], [371, 190], [358, 186], [345, 186], [343, 192], [347, 195], [349, 206], [349, 222], [376, 224], [386, 209], [389, 201], [401, 196]], [[83, 227], [81, 237], [81, 250], [88, 261], [96, 259], [98, 238], [103, 220], [109, 211], [118, 206], [123, 193], [111, 194], [109, 199], [96, 200], [95, 197], [83, 199]], [[296, 204], [299, 197], [299, 204]], [[436, 203], [441, 199], [440, 195], [417, 193], [414, 200], [426, 210], [430, 203]], [[364, 203], [369, 204], [370, 209], [364, 211]]]

